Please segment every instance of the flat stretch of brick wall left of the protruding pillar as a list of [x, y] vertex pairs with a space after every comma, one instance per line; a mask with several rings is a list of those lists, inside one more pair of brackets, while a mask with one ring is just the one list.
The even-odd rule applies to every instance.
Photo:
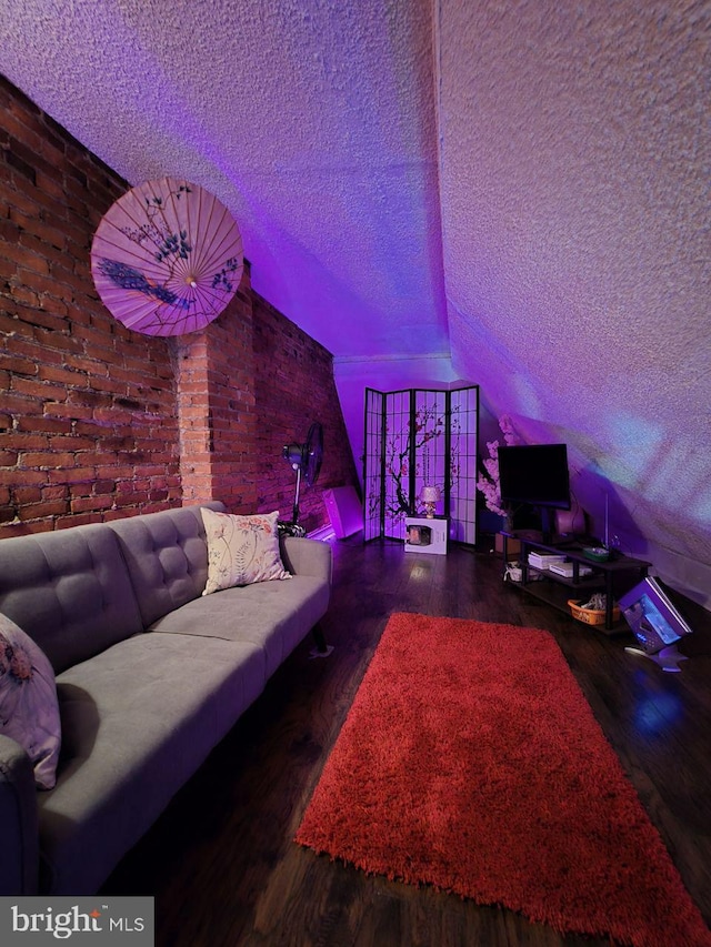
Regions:
[[179, 503], [169, 350], [91, 278], [126, 183], [6, 82], [0, 148], [0, 535]]

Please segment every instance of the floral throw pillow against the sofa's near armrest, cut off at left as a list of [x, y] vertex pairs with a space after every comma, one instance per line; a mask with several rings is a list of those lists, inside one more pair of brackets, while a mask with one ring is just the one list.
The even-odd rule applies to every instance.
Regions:
[[44, 652], [0, 615], [0, 733], [24, 748], [40, 789], [57, 783], [61, 744], [54, 672]]

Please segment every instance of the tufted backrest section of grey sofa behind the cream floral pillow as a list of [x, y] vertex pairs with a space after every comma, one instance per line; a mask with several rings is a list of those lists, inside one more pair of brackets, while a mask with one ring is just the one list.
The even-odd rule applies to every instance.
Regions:
[[[203, 504], [222, 511], [218, 501]], [[107, 524], [118, 536], [144, 626], [202, 594], [208, 547], [200, 506], [181, 506]]]

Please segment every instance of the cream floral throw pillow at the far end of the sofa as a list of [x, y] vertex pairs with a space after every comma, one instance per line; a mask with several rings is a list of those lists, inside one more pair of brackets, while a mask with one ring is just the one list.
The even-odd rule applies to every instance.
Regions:
[[208, 540], [203, 595], [272, 578], [291, 578], [279, 553], [279, 513], [237, 516], [202, 507]]

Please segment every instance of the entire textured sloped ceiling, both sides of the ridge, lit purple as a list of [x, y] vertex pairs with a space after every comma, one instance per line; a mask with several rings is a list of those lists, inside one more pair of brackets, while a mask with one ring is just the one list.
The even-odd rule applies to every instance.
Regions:
[[4, 0], [4, 74], [233, 212], [365, 385], [481, 385], [600, 532], [711, 585], [711, 0]]

